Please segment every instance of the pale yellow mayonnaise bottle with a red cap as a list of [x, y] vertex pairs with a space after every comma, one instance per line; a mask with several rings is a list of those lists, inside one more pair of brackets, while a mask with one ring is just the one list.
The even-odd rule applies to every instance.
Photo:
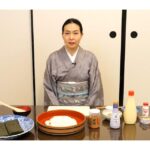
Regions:
[[126, 124], [135, 124], [137, 120], [136, 104], [134, 99], [134, 91], [128, 92], [128, 99], [124, 110], [124, 121]]

